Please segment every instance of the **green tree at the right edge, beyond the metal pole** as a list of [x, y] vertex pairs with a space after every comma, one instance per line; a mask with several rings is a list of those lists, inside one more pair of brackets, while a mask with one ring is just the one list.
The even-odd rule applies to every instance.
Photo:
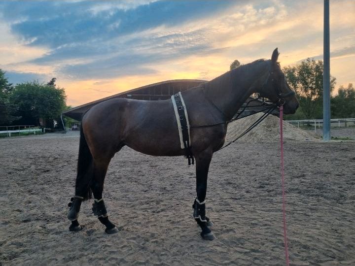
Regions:
[[355, 88], [353, 84], [349, 83], [348, 88], [340, 86], [338, 94], [330, 102], [333, 118], [355, 117]]

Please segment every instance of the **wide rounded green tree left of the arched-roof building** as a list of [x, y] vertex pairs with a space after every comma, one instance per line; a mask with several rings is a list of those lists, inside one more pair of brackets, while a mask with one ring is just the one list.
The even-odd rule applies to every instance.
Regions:
[[18, 106], [18, 115], [22, 116], [18, 123], [36, 126], [40, 118], [53, 120], [60, 116], [66, 99], [63, 88], [38, 81], [17, 84], [10, 96], [11, 102]]

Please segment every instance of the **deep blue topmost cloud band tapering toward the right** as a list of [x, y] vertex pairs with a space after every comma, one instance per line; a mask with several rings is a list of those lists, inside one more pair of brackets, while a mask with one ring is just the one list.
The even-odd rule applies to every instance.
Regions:
[[196, 0], [142, 3], [135, 4], [135, 8], [121, 9], [113, 1], [102, 5], [91, 1], [14, 1], [2, 3], [2, 17], [12, 22], [12, 33], [29, 44], [58, 48], [93, 39], [105, 41], [161, 25], [172, 26], [233, 5], [231, 1], [215, 0], [204, 4]]

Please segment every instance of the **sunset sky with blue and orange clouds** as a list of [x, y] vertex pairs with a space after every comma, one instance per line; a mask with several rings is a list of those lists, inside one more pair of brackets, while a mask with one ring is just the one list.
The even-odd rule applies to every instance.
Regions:
[[[330, 0], [330, 73], [355, 84], [355, 0]], [[235, 60], [323, 58], [323, 0], [0, 1], [11, 83], [57, 78], [77, 106], [171, 79], [211, 80]]]

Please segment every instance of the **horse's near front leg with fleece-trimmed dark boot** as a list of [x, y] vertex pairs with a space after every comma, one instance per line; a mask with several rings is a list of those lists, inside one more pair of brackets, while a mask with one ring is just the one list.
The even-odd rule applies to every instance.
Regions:
[[209, 228], [212, 222], [206, 217], [206, 191], [207, 191], [207, 176], [212, 160], [212, 151], [204, 151], [195, 155], [196, 159], [196, 194], [197, 197], [192, 205], [194, 211], [193, 216], [197, 224], [201, 227], [201, 236], [205, 240], [213, 240], [214, 235]]

